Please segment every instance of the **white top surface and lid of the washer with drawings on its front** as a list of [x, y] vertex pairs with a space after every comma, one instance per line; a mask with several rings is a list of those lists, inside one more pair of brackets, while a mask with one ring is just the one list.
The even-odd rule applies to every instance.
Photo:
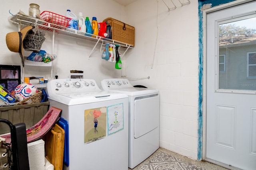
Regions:
[[78, 104], [90, 104], [96, 102], [104, 102], [108, 100], [116, 100], [128, 98], [126, 94], [107, 91], [90, 91], [90, 92], [70, 92], [59, 93], [48, 97], [50, 100], [66, 104], [68, 106]]

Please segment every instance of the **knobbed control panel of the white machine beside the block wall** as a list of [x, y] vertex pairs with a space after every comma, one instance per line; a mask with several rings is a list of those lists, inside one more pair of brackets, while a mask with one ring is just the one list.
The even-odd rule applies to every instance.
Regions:
[[133, 88], [129, 80], [124, 78], [110, 78], [101, 81], [102, 89], [121, 89], [121, 88]]

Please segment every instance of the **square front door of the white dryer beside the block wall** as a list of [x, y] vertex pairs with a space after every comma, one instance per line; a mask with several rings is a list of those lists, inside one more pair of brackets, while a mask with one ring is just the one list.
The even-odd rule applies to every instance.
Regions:
[[159, 94], [134, 99], [134, 138], [159, 126]]

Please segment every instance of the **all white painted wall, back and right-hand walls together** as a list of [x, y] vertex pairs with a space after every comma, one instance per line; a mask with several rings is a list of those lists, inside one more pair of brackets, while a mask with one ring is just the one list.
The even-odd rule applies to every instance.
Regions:
[[[6, 33], [17, 31], [17, 25], [8, 22], [11, 13], [19, 10], [28, 13], [30, 3], [40, 5], [41, 12], [48, 10], [64, 15], [66, 9], [78, 14], [83, 12], [91, 20], [107, 17], [122, 20], [135, 27], [135, 47], [122, 57], [123, 68], [116, 70], [114, 63], [100, 58], [100, 45], [88, 60], [94, 43], [65, 35], [56, 35], [54, 70], [66, 78], [70, 70], [83, 70], [86, 78], [97, 83], [103, 78], [131, 79], [133, 85], [141, 84], [160, 90], [160, 146], [182, 155], [197, 158], [198, 143], [198, 2], [168, 11], [162, 0], [137, 0], [124, 7], [112, 0], [8, 0], [2, 2], [0, 15], [1, 64], [20, 64], [18, 53], [6, 47]], [[186, 2], [186, 0], [181, 0]], [[168, 4], [170, 8], [171, 4]], [[157, 29], [158, 26], [158, 29]], [[157, 36], [158, 35], [158, 36]], [[51, 53], [52, 34], [46, 33], [42, 49]], [[155, 48], [156, 47], [156, 48]], [[154, 55], [154, 51], [156, 51]], [[26, 53], [29, 55], [30, 53]], [[45, 68], [44, 68], [45, 69]], [[35, 71], [36, 70], [36, 71]], [[26, 68], [27, 74], [41, 74], [41, 68]], [[150, 76], [150, 79], [143, 79]], [[48, 76], [49, 77], [49, 76]], [[138, 78], [138, 79], [137, 79]]]

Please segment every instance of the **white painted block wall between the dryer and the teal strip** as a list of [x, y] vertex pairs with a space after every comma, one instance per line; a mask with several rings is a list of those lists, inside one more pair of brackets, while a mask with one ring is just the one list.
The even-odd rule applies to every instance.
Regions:
[[132, 84], [160, 90], [160, 146], [197, 159], [198, 2], [191, 0], [185, 6], [173, 2], [177, 8], [171, 11], [162, 0], [138, 0], [126, 6], [136, 41], [123, 59], [122, 75], [150, 76]]

